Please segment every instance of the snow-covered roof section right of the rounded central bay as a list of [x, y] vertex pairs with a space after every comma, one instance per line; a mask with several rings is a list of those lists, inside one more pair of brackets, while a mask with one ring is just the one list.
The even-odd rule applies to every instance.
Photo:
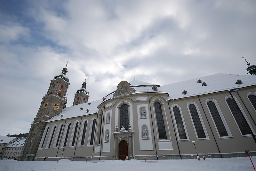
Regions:
[[[197, 83], [198, 79], [202, 80], [202, 83], [205, 82], [206, 86]], [[243, 84], [236, 84], [237, 80], [241, 80]], [[215, 74], [164, 85], [161, 88], [169, 93], [168, 99], [179, 99], [252, 85], [256, 85], [256, 77], [252, 75]], [[187, 94], [182, 94], [183, 90], [186, 90]]]

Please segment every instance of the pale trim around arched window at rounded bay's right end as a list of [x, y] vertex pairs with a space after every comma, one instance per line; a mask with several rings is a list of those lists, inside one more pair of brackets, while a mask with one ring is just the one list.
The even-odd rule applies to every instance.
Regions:
[[[154, 105], [155, 102], [160, 103], [160, 106], [161, 106], [162, 115], [163, 115], [163, 119], [164, 119], [165, 133], [166, 133], [166, 138], [167, 139], [160, 139], [159, 138], [158, 126], [157, 126], [157, 121], [156, 121], [156, 109], [155, 109], [155, 105]], [[153, 111], [154, 111], [154, 117], [155, 117], [155, 125], [156, 125], [156, 130], [157, 130], [156, 133], [157, 133], [158, 142], [160, 142], [160, 141], [169, 141], [169, 142], [171, 142], [171, 134], [170, 134], [169, 124], [168, 124], [168, 120], [167, 120], [167, 116], [166, 116], [166, 112], [165, 112], [164, 102], [162, 100], [160, 100], [159, 98], [156, 98], [152, 101], [152, 105], [153, 105]], [[162, 108], [162, 106], [163, 106], [163, 108]]]

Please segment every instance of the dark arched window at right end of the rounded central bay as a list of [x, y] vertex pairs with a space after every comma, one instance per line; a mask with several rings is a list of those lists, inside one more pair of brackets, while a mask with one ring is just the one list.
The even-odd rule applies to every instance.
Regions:
[[155, 102], [154, 106], [155, 106], [155, 111], [156, 111], [156, 122], [157, 122], [159, 139], [167, 139], [161, 105], [160, 105], [160, 103]]

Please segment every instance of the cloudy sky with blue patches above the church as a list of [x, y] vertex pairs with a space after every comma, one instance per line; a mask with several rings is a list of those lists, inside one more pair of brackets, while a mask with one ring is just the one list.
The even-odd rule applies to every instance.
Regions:
[[255, 0], [0, 0], [0, 135], [25, 133], [68, 63], [68, 104], [119, 82], [166, 85], [256, 64]]

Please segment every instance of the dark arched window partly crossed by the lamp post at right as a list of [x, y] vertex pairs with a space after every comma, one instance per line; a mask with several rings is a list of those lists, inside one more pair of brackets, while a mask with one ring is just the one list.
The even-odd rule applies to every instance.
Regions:
[[231, 110], [241, 133], [243, 135], [251, 134], [251, 128], [248, 125], [246, 119], [244, 118], [244, 115], [237, 103], [231, 98], [228, 98], [226, 102], [228, 103], [228, 107]]

